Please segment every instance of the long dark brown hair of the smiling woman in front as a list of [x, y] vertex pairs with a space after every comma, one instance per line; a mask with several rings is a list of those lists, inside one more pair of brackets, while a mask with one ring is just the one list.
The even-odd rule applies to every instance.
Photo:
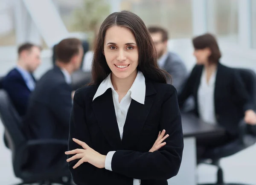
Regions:
[[102, 23], [96, 46], [94, 48], [92, 63], [92, 84], [100, 84], [111, 73], [108, 67], [104, 50], [104, 39], [108, 28], [111, 26], [123, 26], [131, 30], [139, 49], [139, 61], [137, 70], [140, 70], [146, 79], [166, 84], [166, 77], [169, 74], [157, 66], [157, 55], [154, 43], [143, 20], [136, 14], [129, 11], [114, 12]]

